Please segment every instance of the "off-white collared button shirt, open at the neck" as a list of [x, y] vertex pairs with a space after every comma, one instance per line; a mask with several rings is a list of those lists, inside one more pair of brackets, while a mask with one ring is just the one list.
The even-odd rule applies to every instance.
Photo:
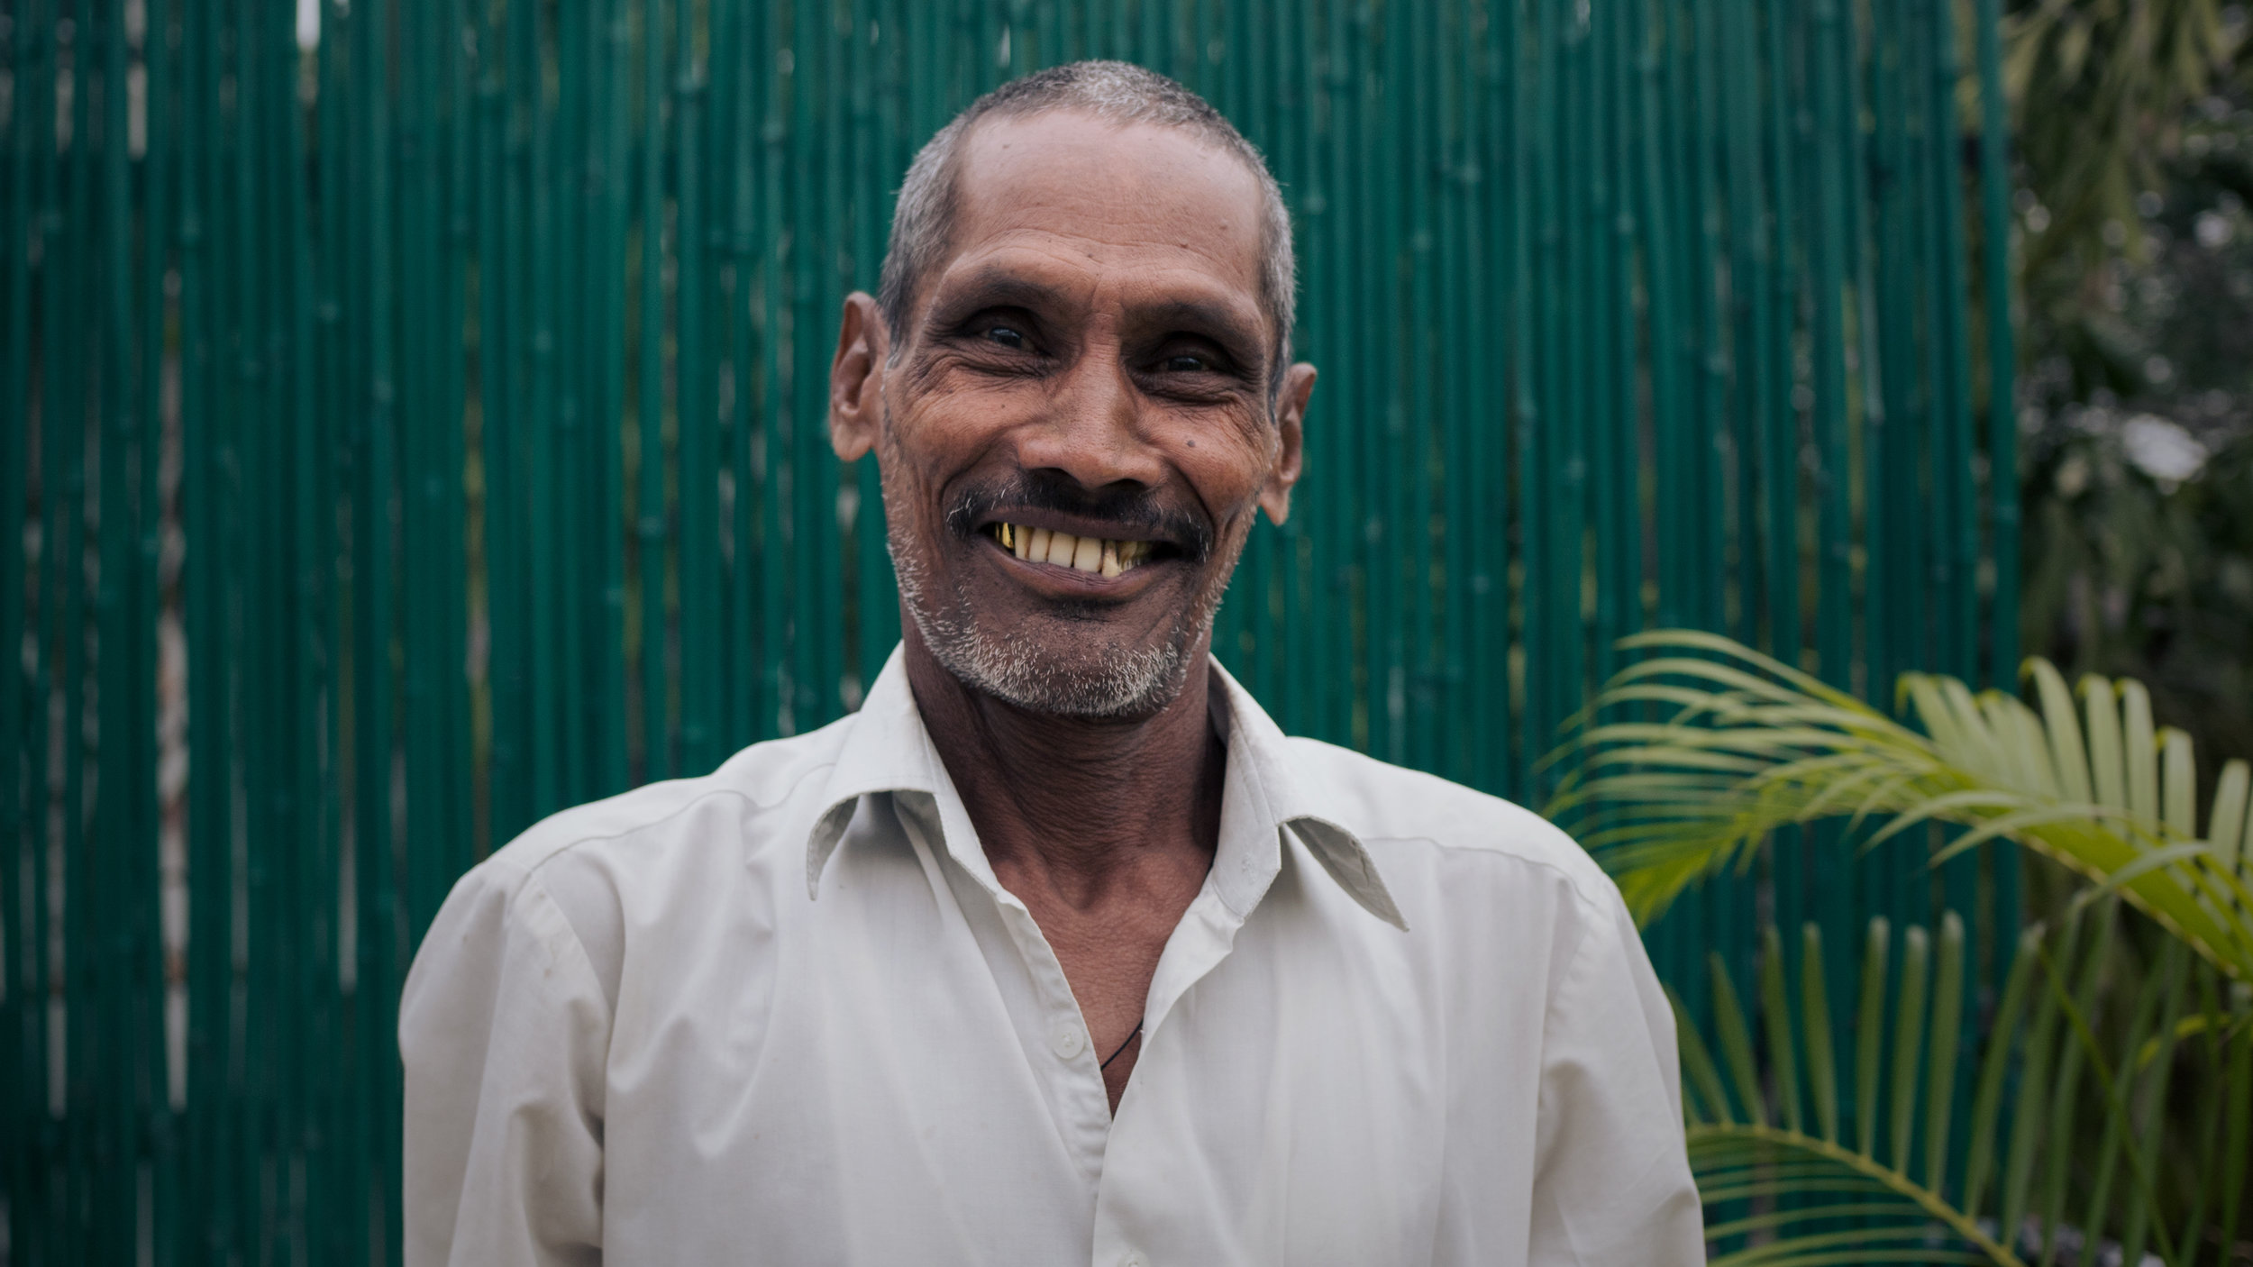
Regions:
[[1219, 850], [1115, 1118], [894, 652], [861, 712], [462, 877], [399, 1012], [406, 1262], [1703, 1262], [1611, 881], [1214, 685]]

